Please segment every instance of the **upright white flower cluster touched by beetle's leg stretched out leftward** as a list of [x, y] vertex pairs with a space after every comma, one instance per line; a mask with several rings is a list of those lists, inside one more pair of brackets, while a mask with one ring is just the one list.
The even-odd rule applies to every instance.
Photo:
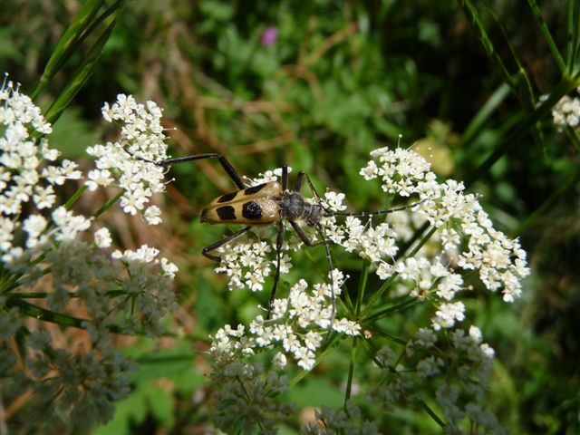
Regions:
[[[122, 123], [121, 137], [106, 145], [89, 147], [87, 153], [97, 159], [97, 169], [88, 174], [89, 189], [111, 186], [115, 179], [124, 190], [121, 208], [125, 213], [142, 213], [150, 225], [161, 222], [160, 208], [149, 206], [154, 193], [165, 189], [165, 169], [143, 160], [165, 160], [167, 145], [161, 126], [161, 109], [155, 102], [141, 104], [129, 95], [120, 94], [111, 106], [105, 103], [102, 116], [105, 121]], [[134, 156], [134, 157], [132, 157]]]

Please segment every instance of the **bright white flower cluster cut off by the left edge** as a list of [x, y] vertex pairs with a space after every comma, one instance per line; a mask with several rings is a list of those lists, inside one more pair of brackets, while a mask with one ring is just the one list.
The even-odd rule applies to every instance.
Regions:
[[[14, 232], [20, 228], [23, 205], [32, 202], [39, 210], [52, 208], [56, 200], [54, 186], [66, 179], [80, 179], [76, 163], [63, 160], [60, 165], [43, 165], [54, 161], [59, 151], [48, 146], [41, 135], [51, 133], [30, 97], [20, 93], [13, 82], [3, 82], [0, 88], [0, 252], [3, 261], [14, 261], [22, 255], [22, 247], [14, 247]], [[46, 222], [32, 218], [24, 228], [34, 244]]]

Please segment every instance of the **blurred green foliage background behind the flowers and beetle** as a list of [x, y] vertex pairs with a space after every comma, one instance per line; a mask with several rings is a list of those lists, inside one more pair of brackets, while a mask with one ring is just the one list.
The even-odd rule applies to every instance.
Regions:
[[[4, 3], [0, 64], [25, 92], [34, 91], [81, 5]], [[52, 145], [77, 160], [97, 135], [104, 141], [109, 134], [100, 121], [102, 103], [117, 93], [132, 93], [165, 108], [167, 127], [177, 129], [168, 131], [174, 155], [220, 152], [248, 177], [287, 163], [307, 171], [319, 191], [345, 192], [353, 209], [380, 208], [380, 189], [362, 188], [358, 176], [369, 151], [393, 146], [402, 134], [402, 146], [415, 144], [431, 156], [441, 177], [469, 178], [533, 111], [534, 99], [560, 81], [562, 72], [546, 39], [521, 2], [477, 4], [478, 23], [505, 63], [503, 72], [482, 48], [473, 20], [466, 18], [469, 5], [425, 0], [129, 2], [72, 107], [56, 122]], [[566, 2], [546, 2], [541, 13], [565, 53]], [[275, 27], [277, 37], [265, 44], [268, 27]], [[90, 34], [38, 102], [50, 106], [97, 43], [98, 34]], [[527, 97], [510, 89], [507, 80], [515, 80], [510, 74], [518, 64], [531, 82]], [[490, 405], [508, 433], [580, 432], [579, 143], [574, 132], [556, 131], [547, 116], [506, 149], [472, 188], [482, 194], [499, 229], [522, 237], [533, 268], [517, 304], [478, 294], [470, 307], [473, 322], [497, 350]], [[131, 221], [116, 236], [126, 247], [148, 241], [179, 263], [181, 309], [172, 323], [183, 335], [166, 349], [144, 340], [132, 344], [128, 352], [141, 365], [135, 389], [119, 403], [115, 420], [96, 433], [183, 433], [206, 424], [210, 404], [203, 374], [208, 367], [200, 353], [207, 349], [207, 335], [247, 319], [255, 313], [256, 298], [262, 303], [267, 298], [230, 294], [213, 265], [200, 256], [224, 228], [200, 224], [198, 211], [232, 189], [227, 176], [207, 161], [178, 165], [171, 176], [175, 182], [168, 188], [160, 231], [144, 234]], [[535, 213], [538, 209], [541, 213]], [[356, 283], [361, 261], [334, 255]], [[296, 265], [288, 279], [324, 274], [323, 252], [299, 256], [305, 266]], [[331, 361], [316, 369], [323, 378], [306, 377], [288, 399], [301, 407], [340, 405], [333, 398], [348, 364]], [[370, 375], [357, 372], [362, 378]], [[419, 408], [393, 415], [382, 430], [438, 432]], [[285, 430], [294, 433], [297, 427], [289, 421]]]

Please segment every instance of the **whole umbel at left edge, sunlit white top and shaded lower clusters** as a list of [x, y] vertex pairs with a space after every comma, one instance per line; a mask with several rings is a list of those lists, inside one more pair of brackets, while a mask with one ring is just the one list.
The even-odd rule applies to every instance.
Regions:
[[[18, 330], [31, 330], [26, 343], [34, 351], [23, 370], [15, 348], [0, 346], [5, 373], [14, 372], [3, 394], [15, 398], [24, 389], [34, 391], [31, 406], [43, 409], [43, 424], [51, 426], [41, 432], [60, 430], [68, 414], [70, 426], [63, 431], [84, 433], [110, 420], [112, 400], [129, 392], [126, 372], [133, 363], [114, 349], [111, 330], [160, 334], [161, 317], [177, 307], [172, 291], [177, 267], [147, 246], [111, 254], [111, 233], [106, 227], [91, 234], [93, 218], [56, 207], [53, 186], [80, 179], [81, 172], [68, 160], [60, 166], [45, 165], [43, 160], [56, 160], [59, 153], [46, 140], [32, 138], [50, 132], [51, 126], [11, 82], [2, 86], [0, 95], [4, 102], [0, 107], [4, 132], [0, 138], [4, 268], [0, 337], [14, 340]], [[50, 288], [44, 292], [47, 310], [26, 301], [41, 280], [43, 288]], [[73, 301], [82, 305], [81, 319], [67, 315]], [[41, 318], [53, 316], [58, 322], [64, 318], [85, 328], [91, 341], [79, 348], [86, 349], [87, 343], [90, 348], [86, 352], [75, 348], [73, 353], [56, 349], [41, 320], [28, 319], [24, 324], [24, 315], [36, 315], [38, 310], [44, 310]]]

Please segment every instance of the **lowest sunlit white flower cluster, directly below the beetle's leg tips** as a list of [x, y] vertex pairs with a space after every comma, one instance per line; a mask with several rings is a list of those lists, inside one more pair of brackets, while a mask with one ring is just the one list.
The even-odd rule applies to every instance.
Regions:
[[[340, 295], [344, 276], [333, 271], [334, 295]], [[219, 329], [213, 337], [209, 353], [215, 361], [234, 360], [262, 352], [267, 348], [281, 347], [282, 354], [276, 354], [275, 364], [284, 366], [286, 355], [292, 356], [298, 366], [312, 370], [316, 362], [316, 351], [324, 341], [324, 335], [331, 326], [333, 314], [331, 287], [315, 284], [312, 290], [304, 279], [290, 289], [287, 298], [274, 302], [271, 319], [258, 315], [249, 326], [232, 329], [229, 325]], [[339, 333], [359, 335], [361, 326], [348, 319], [332, 319], [332, 328]]]

